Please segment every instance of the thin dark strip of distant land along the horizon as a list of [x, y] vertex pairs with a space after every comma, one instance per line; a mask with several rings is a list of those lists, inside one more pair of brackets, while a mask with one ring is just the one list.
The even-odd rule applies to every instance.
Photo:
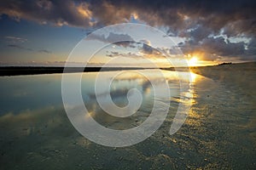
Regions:
[[[211, 66], [191, 66], [189, 69], [195, 71], [195, 69], [200, 68], [223, 68], [229, 69], [233, 65], [241, 66], [240, 69], [247, 69], [245, 65], [256, 65], [256, 62], [247, 62], [247, 63], [223, 63], [218, 65]], [[252, 67], [250, 67], [252, 68]], [[68, 67], [65, 73], [74, 73], [74, 72], [98, 72], [98, 71], [125, 71], [125, 70], [144, 70], [144, 69], [154, 69], [147, 67]], [[159, 69], [159, 68], [157, 68]], [[166, 71], [187, 71], [188, 67], [169, 67], [169, 68], [160, 68]], [[63, 73], [63, 66], [0, 66], [0, 77], [3, 76], [20, 76], [20, 75], [38, 75], [38, 74], [54, 74], [54, 73]]]

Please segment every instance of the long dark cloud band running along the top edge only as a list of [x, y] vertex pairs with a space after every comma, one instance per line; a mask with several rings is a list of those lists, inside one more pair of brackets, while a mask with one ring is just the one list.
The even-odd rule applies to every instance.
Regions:
[[[256, 2], [253, 0], [3, 0], [2, 14], [55, 25], [91, 26], [125, 22], [136, 15], [152, 26], [170, 26], [172, 31], [198, 24], [212, 31], [256, 32]], [[232, 29], [230, 29], [232, 28]]]

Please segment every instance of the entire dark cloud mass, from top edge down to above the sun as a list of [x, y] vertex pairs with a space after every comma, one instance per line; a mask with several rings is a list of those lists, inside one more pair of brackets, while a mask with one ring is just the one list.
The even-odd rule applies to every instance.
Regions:
[[[180, 44], [185, 53], [200, 50], [209, 56], [242, 55], [245, 59], [253, 59], [252, 56], [255, 59], [255, 46], [250, 45], [253, 42], [229, 42], [213, 37], [221, 33], [227, 37], [253, 37], [254, 41], [255, 8], [255, 0], [3, 0], [0, 3], [0, 13], [15, 20], [55, 26], [100, 27], [128, 22], [133, 17], [150, 26], [166, 26], [170, 35], [187, 38]], [[131, 45], [129, 42], [118, 45], [122, 44]], [[146, 45], [144, 49], [150, 52]]]

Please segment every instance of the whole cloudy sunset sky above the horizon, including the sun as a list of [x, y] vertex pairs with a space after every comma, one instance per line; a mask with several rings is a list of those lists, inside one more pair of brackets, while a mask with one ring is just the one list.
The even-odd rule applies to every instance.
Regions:
[[[90, 32], [120, 23], [164, 31], [175, 40], [189, 65], [255, 61], [255, 8], [254, 0], [2, 0], [0, 65], [64, 65]], [[117, 36], [109, 34], [97, 41], [113, 37]], [[119, 58], [119, 65], [128, 65], [142, 56], [160, 65], [165, 62], [147, 37], [132, 41], [134, 38], [102, 49], [90, 64]]]

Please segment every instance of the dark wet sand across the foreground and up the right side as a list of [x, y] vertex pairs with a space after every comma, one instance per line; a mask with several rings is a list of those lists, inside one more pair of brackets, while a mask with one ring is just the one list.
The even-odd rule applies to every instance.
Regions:
[[255, 169], [255, 64], [191, 71], [204, 77], [174, 135], [170, 114], [142, 143], [109, 148], [84, 139], [61, 105], [9, 113], [0, 117], [0, 169]]

